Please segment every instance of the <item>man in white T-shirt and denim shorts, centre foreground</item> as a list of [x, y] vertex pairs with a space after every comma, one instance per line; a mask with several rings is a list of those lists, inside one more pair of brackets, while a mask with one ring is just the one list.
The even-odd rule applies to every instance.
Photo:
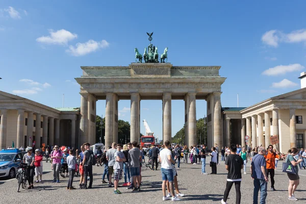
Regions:
[[159, 160], [162, 164], [161, 172], [162, 172], [162, 179], [163, 179], [163, 184], [162, 184], [163, 195], [164, 195], [163, 200], [169, 200], [170, 199], [166, 196], [166, 185], [167, 185], [167, 181], [168, 181], [170, 191], [171, 191], [171, 195], [172, 195], [171, 200], [172, 201], [178, 201], [178, 200], [181, 200], [181, 199], [177, 198], [175, 196], [174, 190], [173, 190], [174, 174], [173, 174], [171, 164], [175, 164], [175, 162], [172, 159], [171, 150], [169, 150], [170, 142], [167, 140], [167, 141], [165, 141], [164, 145], [165, 145], [165, 148], [160, 151], [160, 156], [159, 156]]

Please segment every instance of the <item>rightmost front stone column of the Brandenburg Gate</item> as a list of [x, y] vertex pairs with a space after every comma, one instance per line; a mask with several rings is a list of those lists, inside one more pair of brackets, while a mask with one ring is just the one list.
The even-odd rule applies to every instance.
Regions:
[[[220, 135], [221, 101], [220, 92], [214, 93], [214, 143], [222, 148], [224, 146], [223, 136]], [[221, 149], [220, 149], [221, 150]], [[218, 152], [219, 153], [219, 152]]]

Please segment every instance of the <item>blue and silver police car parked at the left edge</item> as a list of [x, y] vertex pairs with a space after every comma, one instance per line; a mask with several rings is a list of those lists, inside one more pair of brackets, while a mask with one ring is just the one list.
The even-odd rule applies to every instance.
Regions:
[[2, 149], [0, 151], [0, 177], [8, 176], [13, 179], [25, 153], [27, 152], [19, 149]]

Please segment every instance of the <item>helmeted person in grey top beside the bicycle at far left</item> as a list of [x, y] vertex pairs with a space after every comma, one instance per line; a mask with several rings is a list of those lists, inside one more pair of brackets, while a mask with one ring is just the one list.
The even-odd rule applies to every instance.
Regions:
[[23, 155], [23, 163], [27, 163], [28, 165], [28, 168], [25, 168], [25, 173], [27, 173], [27, 179], [29, 183], [28, 189], [31, 189], [34, 188], [33, 180], [35, 173], [35, 165], [34, 165], [35, 155], [33, 154], [32, 147], [27, 147], [25, 151], [27, 151], [27, 153]]

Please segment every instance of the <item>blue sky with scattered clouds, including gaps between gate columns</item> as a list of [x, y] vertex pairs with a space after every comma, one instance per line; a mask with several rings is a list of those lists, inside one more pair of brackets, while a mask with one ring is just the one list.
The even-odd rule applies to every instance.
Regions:
[[[1, 1], [0, 90], [50, 107], [80, 107], [80, 66], [126, 66], [135, 47], [169, 47], [174, 66], [220, 65], [223, 107], [248, 107], [300, 88], [306, 3], [295, 1]], [[197, 118], [206, 101], [197, 100]], [[130, 121], [130, 101], [119, 119]], [[162, 136], [162, 101], [142, 100], [141, 120]], [[105, 114], [105, 101], [97, 102]], [[172, 136], [184, 101], [172, 100]], [[145, 133], [141, 125], [141, 133]]]

